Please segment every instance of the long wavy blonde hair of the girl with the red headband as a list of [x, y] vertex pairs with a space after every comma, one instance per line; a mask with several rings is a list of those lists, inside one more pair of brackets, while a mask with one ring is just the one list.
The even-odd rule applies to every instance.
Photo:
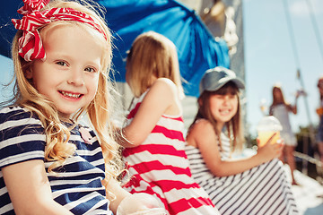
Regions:
[[[48, 30], [57, 25], [71, 25], [77, 24], [87, 30], [93, 39], [100, 39], [102, 41], [103, 54], [101, 56], [100, 64], [101, 70], [99, 74], [99, 83], [97, 93], [92, 102], [87, 106], [81, 108], [74, 116], [73, 120], [77, 122], [84, 114], [87, 114], [89, 120], [98, 135], [100, 146], [103, 151], [103, 157], [106, 162], [106, 172], [109, 176], [116, 176], [117, 165], [110, 165], [117, 153], [117, 143], [115, 142], [114, 125], [110, 120], [111, 108], [113, 108], [112, 97], [109, 96], [113, 88], [109, 82], [109, 70], [112, 57], [111, 34], [107, 24], [101, 17], [99, 4], [94, 2], [83, 1], [66, 1], [66, 0], [52, 0], [42, 10], [51, 8], [73, 8], [74, 10], [87, 13], [92, 17], [94, 22], [100, 25], [100, 28], [105, 32], [108, 39], [104, 39], [103, 35], [97, 33], [92, 27], [81, 22], [50, 22], [46, 26], [39, 29], [40, 35], [42, 30]], [[100, 13], [98, 12], [100, 11]], [[46, 148], [45, 159], [53, 161], [53, 164], [48, 168], [48, 172], [54, 168], [64, 165], [65, 159], [74, 154], [75, 146], [68, 143], [70, 137], [70, 129], [63, 125], [58, 117], [57, 108], [55, 105], [41, 95], [25, 77], [27, 70], [31, 68], [33, 61], [26, 62], [18, 54], [18, 39], [22, 36], [22, 31], [18, 30], [12, 46], [12, 56], [14, 65], [14, 90], [13, 90], [13, 104], [20, 107], [27, 107], [32, 113], [35, 113], [42, 125], [45, 128], [46, 134]]]

